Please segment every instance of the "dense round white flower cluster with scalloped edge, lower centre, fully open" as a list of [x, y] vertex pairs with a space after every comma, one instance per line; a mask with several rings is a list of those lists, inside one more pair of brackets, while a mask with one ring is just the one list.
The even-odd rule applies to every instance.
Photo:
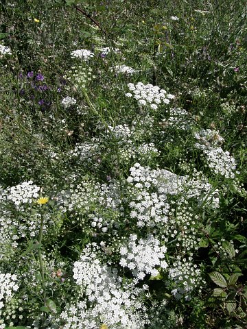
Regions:
[[130, 234], [127, 245], [120, 247], [122, 267], [128, 267], [135, 278], [143, 280], [145, 276], [157, 276], [158, 270], [167, 268], [165, 252], [167, 248], [160, 246], [160, 242], [151, 234], [146, 239], [137, 238], [136, 234]]

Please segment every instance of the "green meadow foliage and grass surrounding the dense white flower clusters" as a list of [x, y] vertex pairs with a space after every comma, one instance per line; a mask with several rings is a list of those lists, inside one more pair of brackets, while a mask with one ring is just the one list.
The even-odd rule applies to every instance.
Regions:
[[[23, 280], [1, 315], [12, 321], [4, 322], [5, 329], [30, 328], [34, 320], [40, 329], [51, 326], [49, 321], [64, 326], [56, 322], [60, 313], [71, 301], [79, 304], [82, 294], [73, 279], [73, 263], [91, 242], [104, 241], [102, 259], [117, 264], [123, 281], [132, 280], [131, 271], [119, 265], [119, 245], [130, 234], [158, 236], [168, 250], [168, 269], [191, 258], [203, 280], [191, 294], [181, 295], [171, 291], [184, 289], [179, 284], [185, 277], [172, 280], [168, 269], [158, 268], [156, 276], [143, 280], [149, 287], [148, 328], [247, 326], [245, 7], [242, 0], [147, 0], [141, 5], [117, 0], [1, 1], [0, 40], [12, 51], [8, 57], [0, 53], [1, 193], [33, 180], [51, 196], [44, 235], [37, 204], [16, 210], [1, 199], [0, 218], [7, 218], [9, 230], [4, 239], [10, 231], [17, 236], [20, 226], [27, 230], [1, 245], [1, 272], [17, 273]], [[120, 50], [105, 54], [104, 47]], [[75, 49], [89, 49], [94, 57], [86, 62], [71, 58]], [[133, 67], [134, 75], [118, 73], [121, 64]], [[93, 78], [84, 86], [76, 73], [82, 77], [89, 68]], [[44, 80], [37, 80], [39, 74]], [[137, 99], [125, 96], [130, 82], [154, 84], [175, 98], [158, 110], [141, 107]], [[69, 108], [61, 103], [67, 96], [76, 100]], [[174, 108], [185, 110], [186, 120], [174, 119]], [[109, 128], [119, 125], [135, 131], [127, 142]], [[204, 151], [196, 148], [194, 134], [207, 129], [224, 141], [217, 141], [216, 134], [204, 149], [215, 142], [229, 151], [239, 171], [234, 178], [215, 173]], [[151, 143], [157, 151], [137, 151]], [[76, 147], [81, 153], [76, 154]], [[206, 183], [198, 199], [187, 199], [189, 188], [179, 192], [183, 195], [169, 195], [167, 222], [154, 230], [139, 228], [129, 207], [139, 188], [131, 189], [126, 182], [137, 162], [190, 182], [204, 180], [211, 186], [209, 197], [202, 197]], [[115, 182], [122, 202], [117, 210], [106, 207], [108, 198], [115, 201], [116, 191], [99, 195], [100, 186]], [[196, 194], [196, 187], [192, 189]], [[69, 199], [74, 193], [76, 199], [80, 191], [86, 195], [84, 204], [66, 209], [58, 204], [61, 195]], [[150, 193], [161, 194], [154, 186]], [[213, 193], [218, 208], [208, 204]], [[181, 197], [186, 199], [182, 210]], [[151, 210], [147, 206], [143, 216]], [[181, 213], [187, 212], [192, 215], [183, 223]], [[91, 225], [95, 217], [109, 223], [106, 232], [96, 221]], [[36, 228], [32, 234], [30, 226]]]

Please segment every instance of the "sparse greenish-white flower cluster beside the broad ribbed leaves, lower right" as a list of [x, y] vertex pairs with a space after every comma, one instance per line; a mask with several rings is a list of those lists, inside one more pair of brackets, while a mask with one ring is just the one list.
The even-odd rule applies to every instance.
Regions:
[[197, 265], [193, 265], [191, 260], [192, 257], [189, 257], [189, 261], [186, 258], [183, 258], [182, 261], [178, 260], [169, 269], [169, 278], [176, 284], [172, 294], [177, 300], [180, 300], [183, 295], [185, 300], [190, 300], [191, 292], [202, 284], [200, 269], [198, 269]]

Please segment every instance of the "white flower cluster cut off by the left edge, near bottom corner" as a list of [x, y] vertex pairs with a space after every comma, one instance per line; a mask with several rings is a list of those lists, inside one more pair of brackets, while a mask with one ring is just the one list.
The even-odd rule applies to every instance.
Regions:
[[3, 324], [3, 319], [1, 317], [1, 309], [4, 308], [5, 304], [8, 304], [8, 302], [11, 301], [13, 291], [17, 291], [19, 289], [16, 281], [16, 274], [0, 273], [0, 329], [5, 328], [5, 324]]

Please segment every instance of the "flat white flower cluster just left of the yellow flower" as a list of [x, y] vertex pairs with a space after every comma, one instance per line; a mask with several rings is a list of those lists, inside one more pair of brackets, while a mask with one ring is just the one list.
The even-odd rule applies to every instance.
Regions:
[[33, 183], [34, 182], [30, 180], [7, 188], [5, 191], [7, 199], [12, 200], [17, 208], [19, 208], [20, 204], [31, 204], [33, 201], [32, 199], [36, 199], [39, 196], [38, 192], [40, 191], [40, 187]]

